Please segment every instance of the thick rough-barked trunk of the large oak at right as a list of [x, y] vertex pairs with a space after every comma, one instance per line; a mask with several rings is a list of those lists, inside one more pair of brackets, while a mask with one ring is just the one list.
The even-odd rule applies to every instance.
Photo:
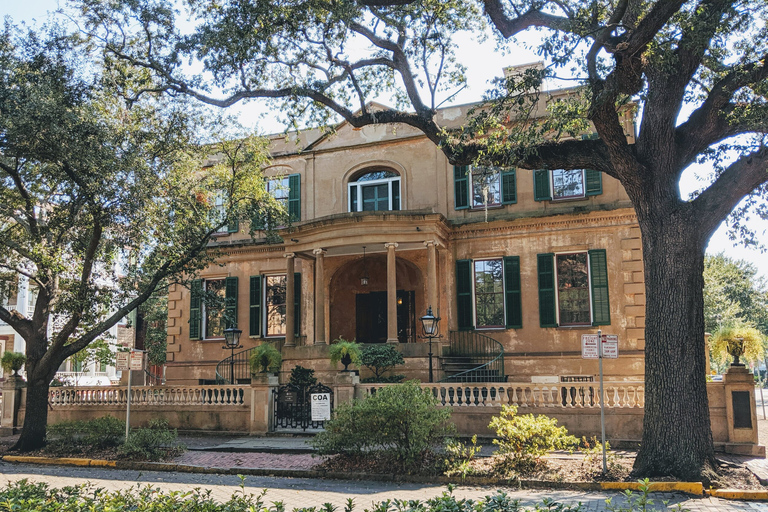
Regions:
[[658, 206], [647, 215], [637, 209], [647, 304], [646, 397], [633, 473], [708, 482], [716, 461], [705, 376], [705, 241], [690, 214], [664, 214]]

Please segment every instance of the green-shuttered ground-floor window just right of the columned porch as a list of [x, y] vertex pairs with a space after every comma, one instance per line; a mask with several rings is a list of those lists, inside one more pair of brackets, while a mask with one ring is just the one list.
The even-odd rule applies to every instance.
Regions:
[[456, 291], [459, 330], [523, 326], [518, 256], [457, 261]]

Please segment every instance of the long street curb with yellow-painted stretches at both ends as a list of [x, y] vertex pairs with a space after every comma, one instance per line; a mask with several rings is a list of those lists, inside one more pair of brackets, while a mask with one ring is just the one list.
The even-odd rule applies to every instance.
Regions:
[[[59, 466], [88, 466], [129, 469], [134, 471], [164, 471], [183, 473], [206, 473], [223, 475], [250, 475], [288, 478], [325, 478], [332, 480], [368, 480], [378, 482], [402, 482], [419, 484], [457, 484], [505, 486], [525, 489], [578, 489], [582, 491], [638, 491], [639, 482], [542, 482], [540, 480], [517, 480], [497, 477], [456, 478], [448, 476], [410, 476], [402, 474], [365, 473], [350, 475], [340, 471], [315, 471], [305, 469], [261, 469], [261, 468], [223, 468], [173, 464], [168, 462], [134, 462], [99, 459], [77, 459], [57, 457], [25, 457], [5, 455], [4, 462], [27, 464], [46, 464]], [[680, 492], [693, 496], [704, 496], [701, 482], [651, 482], [650, 492]], [[742, 491], [738, 489], [719, 489], [710, 491], [710, 496], [734, 500], [768, 500], [768, 491]]]

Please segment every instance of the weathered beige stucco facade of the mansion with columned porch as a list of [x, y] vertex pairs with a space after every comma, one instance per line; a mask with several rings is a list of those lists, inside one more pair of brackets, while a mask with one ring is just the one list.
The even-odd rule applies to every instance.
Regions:
[[[460, 124], [465, 113], [465, 107], [452, 107], [440, 111], [438, 119]], [[631, 138], [629, 118], [626, 129]], [[263, 322], [261, 332], [249, 329], [249, 317], [256, 311], [251, 277], [285, 275], [293, 264], [300, 274], [295, 319], [299, 337], [295, 347], [283, 349], [283, 372], [301, 364], [315, 368], [321, 380], [332, 378], [325, 344], [365, 336], [361, 323], [373, 322], [361, 316], [365, 305], [366, 315], [386, 317], [379, 319], [386, 335], [375, 341], [398, 341], [406, 355], [405, 371], [399, 373], [426, 380], [427, 351], [417, 336], [418, 317], [427, 306], [439, 310], [440, 343], [449, 343], [450, 331], [460, 327], [457, 262], [516, 256], [522, 326], [478, 329], [502, 344], [509, 380], [554, 382], [567, 376], [594, 376], [597, 361], [582, 359], [580, 350], [581, 335], [596, 333], [597, 326], [541, 327], [537, 257], [602, 249], [610, 323], [600, 328], [619, 336], [620, 353], [619, 359], [606, 360], [605, 373], [614, 380], [642, 379], [645, 293], [640, 230], [625, 191], [613, 178], [602, 176], [602, 190], [596, 195], [535, 200], [534, 172], [517, 169], [513, 203], [472, 208], [470, 196], [470, 207], [457, 209], [454, 167], [432, 142], [407, 126], [341, 125], [328, 135], [308, 131], [274, 137], [271, 150], [273, 160], [264, 174], [298, 175], [300, 219], [280, 231], [282, 243], [253, 241], [242, 226], [238, 233], [220, 236], [216, 240], [220, 265], [201, 275], [203, 280], [238, 278], [236, 308], [244, 348], [270, 339], [264, 336]], [[370, 170], [399, 176], [399, 209], [349, 211], [349, 183]], [[365, 286], [360, 281], [364, 273], [369, 277]], [[506, 276], [505, 287], [509, 280]], [[263, 300], [263, 289], [259, 293]], [[479, 299], [472, 293], [476, 315]], [[360, 295], [366, 296], [362, 302]], [[394, 338], [389, 321], [393, 305], [404, 319], [403, 325], [398, 320]], [[408, 311], [403, 313], [402, 307]], [[264, 320], [264, 310], [258, 311]], [[205, 339], [204, 332], [200, 338], [190, 339], [190, 292], [177, 286], [169, 295], [169, 384], [215, 379], [215, 366], [229, 351], [219, 338]]]

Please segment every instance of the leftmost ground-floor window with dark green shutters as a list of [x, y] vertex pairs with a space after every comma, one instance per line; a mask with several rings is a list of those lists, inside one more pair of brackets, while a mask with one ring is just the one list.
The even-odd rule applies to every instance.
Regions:
[[190, 288], [189, 339], [220, 339], [237, 327], [237, 278], [195, 279]]

